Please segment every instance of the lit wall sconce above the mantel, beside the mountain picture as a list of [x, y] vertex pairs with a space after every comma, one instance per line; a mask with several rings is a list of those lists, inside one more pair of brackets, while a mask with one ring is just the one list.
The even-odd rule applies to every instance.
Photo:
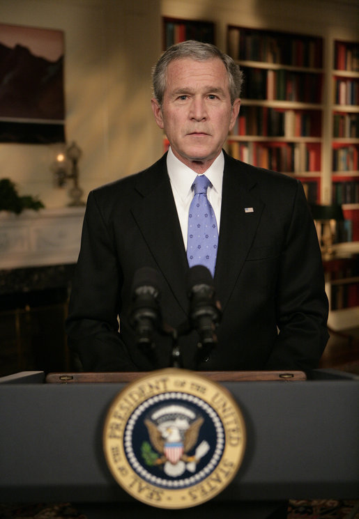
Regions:
[[71, 201], [68, 206], [70, 207], [85, 205], [85, 202], [81, 200], [83, 190], [79, 187], [79, 168], [77, 165], [81, 155], [82, 150], [75, 141], [72, 141], [63, 153], [58, 153], [55, 162], [52, 164], [56, 185], [63, 187], [67, 179], [73, 180], [73, 187], [69, 192]]

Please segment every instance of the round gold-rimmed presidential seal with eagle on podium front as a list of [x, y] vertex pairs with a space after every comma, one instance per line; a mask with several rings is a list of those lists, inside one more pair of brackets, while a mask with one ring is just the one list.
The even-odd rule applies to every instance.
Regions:
[[104, 450], [114, 479], [130, 495], [159, 508], [189, 508], [234, 479], [245, 423], [219, 384], [192, 371], [153, 371], [114, 399]]

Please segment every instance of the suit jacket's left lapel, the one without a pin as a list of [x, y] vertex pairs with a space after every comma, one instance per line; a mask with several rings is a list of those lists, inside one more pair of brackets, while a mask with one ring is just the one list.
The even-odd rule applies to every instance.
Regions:
[[142, 199], [132, 208], [148, 248], [183, 310], [188, 300], [183, 287], [188, 270], [181, 226], [167, 174], [165, 157], [139, 178], [136, 189]]

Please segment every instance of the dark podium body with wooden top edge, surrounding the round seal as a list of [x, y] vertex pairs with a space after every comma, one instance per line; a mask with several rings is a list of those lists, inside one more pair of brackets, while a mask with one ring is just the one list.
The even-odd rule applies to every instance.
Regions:
[[[0, 379], [0, 502], [133, 502], [105, 463], [102, 430], [115, 396], [141, 374]], [[234, 396], [247, 429], [243, 463], [215, 501], [359, 497], [358, 377], [330, 370], [307, 380], [280, 372], [254, 373], [256, 381], [242, 372], [211, 376]]]

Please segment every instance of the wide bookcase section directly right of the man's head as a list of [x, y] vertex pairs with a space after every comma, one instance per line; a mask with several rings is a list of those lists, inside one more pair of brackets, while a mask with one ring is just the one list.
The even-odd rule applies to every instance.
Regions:
[[228, 54], [245, 76], [229, 153], [302, 180], [320, 202], [323, 38], [228, 26]]

